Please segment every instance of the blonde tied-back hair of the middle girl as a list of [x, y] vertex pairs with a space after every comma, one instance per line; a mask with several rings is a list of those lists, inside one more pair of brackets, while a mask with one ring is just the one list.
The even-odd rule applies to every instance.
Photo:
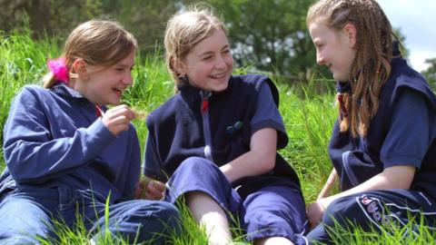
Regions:
[[214, 30], [223, 30], [227, 34], [223, 21], [213, 15], [211, 7], [204, 5], [190, 6], [170, 18], [164, 38], [165, 59], [176, 86], [185, 82], [179, 79], [183, 74], [177, 73], [173, 68], [173, 59], [183, 60], [193, 46], [211, 36]]

